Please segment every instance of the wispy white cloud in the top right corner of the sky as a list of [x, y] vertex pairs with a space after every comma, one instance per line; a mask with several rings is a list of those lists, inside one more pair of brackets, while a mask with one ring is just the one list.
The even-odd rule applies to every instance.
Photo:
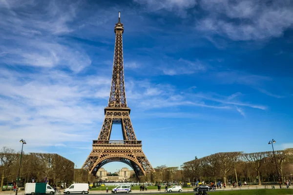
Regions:
[[233, 40], [280, 37], [293, 26], [293, 4], [288, 0], [201, 0], [200, 6], [209, 14], [196, 28]]

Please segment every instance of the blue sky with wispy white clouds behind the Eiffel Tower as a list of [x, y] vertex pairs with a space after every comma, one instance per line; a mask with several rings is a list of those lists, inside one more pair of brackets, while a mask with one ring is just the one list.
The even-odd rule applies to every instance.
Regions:
[[25, 152], [82, 166], [104, 119], [119, 11], [127, 103], [153, 167], [268, 151], [272, 138], [293, 147], [292, 10], [289, 0], [2, 0], [0, 147], [20, 150], [23, 138]]

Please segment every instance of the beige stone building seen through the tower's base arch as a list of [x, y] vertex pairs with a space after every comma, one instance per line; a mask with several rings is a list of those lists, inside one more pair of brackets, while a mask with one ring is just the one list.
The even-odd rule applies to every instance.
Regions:
[[118, 172], [116, 172], [115, 174], [118, 174], [118, 176], [107, 176], [107, 171], [104, 168], [100, 168], [96, 176], [101, 181], [115, 181], [115, 182], [127, 181], [129, 177], [134, 174], [134, 171], [124, 167]]

